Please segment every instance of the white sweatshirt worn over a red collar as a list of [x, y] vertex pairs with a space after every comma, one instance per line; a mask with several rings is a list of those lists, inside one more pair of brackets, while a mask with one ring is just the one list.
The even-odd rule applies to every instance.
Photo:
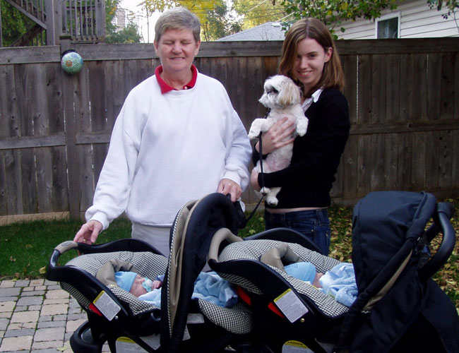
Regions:
[[126, 210], [133, 222], [170, 226], [188, 201], [221, 179], [249, 184], [251, 145], [223, 85], [198, 73], [189, 90], [161, 94], [155, 76], [131, 92], [117, 117], [86, 220], [104, 229]]

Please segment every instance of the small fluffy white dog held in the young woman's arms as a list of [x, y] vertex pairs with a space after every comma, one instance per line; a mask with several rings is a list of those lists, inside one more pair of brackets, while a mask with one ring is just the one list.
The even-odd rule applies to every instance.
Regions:
[[[304, 136], [308, 128], [308, 119], [304, 116], [302, 106], [300, 104], [302, 92], [295, 85], [293, 80], [283, 75], [276, 75], [268, 78], [264, 85], [265, 92], [261, 96], [259, 102], [265, 107], [270, 108], [270, 112], [266, 119], [255, 119], [249, 131], [249, 138], [257, 138], [260, 132], [266, 132], [276, 121], [287, 116], [288, 121], [294, 121], [296, 130], [293, 137]], [[291, 138], [288, 136], [286, 139]], [[292, 160], [293, 143], [289, 143], [277, 150], [270, 152], [266, 160], [263, 160], [263, 172], [270, 173], [284, 169], [290, 165]], [[263, 152], [263, 151], [262, 151]], [[260, 161], [257, 162], [254, 169], [261, 172]], [[263, 188], [262, 193], [266, 194], [266, 202], [268, 205], [277, 205], [278, 198], [276, 197], [280, 191], [280, 187]]]

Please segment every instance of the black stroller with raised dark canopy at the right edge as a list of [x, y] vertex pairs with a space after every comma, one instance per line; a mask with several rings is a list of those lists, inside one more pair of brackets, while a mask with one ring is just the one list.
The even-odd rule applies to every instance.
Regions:
[[[352, 217], [358, 297], [350, 308], [282, 270], [309, 261], [324, 273], [335, 259], [292, 238], [285, 243], [258, 234], [242, 241], [220, 229], [210, 246], [210, 268], [239, 286], [254, 318], [251, 342], [238, 349], [459, 352], [458, 313], [431, 280], [455, 245], [452, 213], [429, 193], [375, 192], [359, 201]], [[431, 256], [428, 245], [439, 232], [441, 246]]]

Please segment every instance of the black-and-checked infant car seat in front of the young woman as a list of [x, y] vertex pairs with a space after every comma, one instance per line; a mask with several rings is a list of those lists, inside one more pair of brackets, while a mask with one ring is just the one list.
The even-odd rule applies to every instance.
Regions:
[[[294, 240], [291, 235], [290, 239]], [[218, 255], [222, 241], [231, 244]], [[243, 241], [229, 229], [215, 233], [209, 265], [222, 278], [239, 286], [239, 297], [249, 304], [254, 319], [249, 345], [257, 347], [254, 352], [307, 352], [302, 349], [325, 352], [323, 347], [333, 347], [348, 308], [281, 270], [282, 263], [300, 261], [313, 263], [321, 273], [340, 263], [293, 242]]]

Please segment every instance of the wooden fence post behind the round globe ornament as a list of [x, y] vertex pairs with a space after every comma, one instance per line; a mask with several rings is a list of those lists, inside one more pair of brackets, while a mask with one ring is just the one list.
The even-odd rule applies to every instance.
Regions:
[[[61, 55], [71, 49], [71, 35], [61, 35]], [[62, 74], [62, 93], [64, 98], [66, 162], [68, 184], [68, 210], [72, 220], [80, 220], [80, 186], [78, 184], [78, 167], [76, 159], [76, 116], [74, 109], [75, 76]]]

